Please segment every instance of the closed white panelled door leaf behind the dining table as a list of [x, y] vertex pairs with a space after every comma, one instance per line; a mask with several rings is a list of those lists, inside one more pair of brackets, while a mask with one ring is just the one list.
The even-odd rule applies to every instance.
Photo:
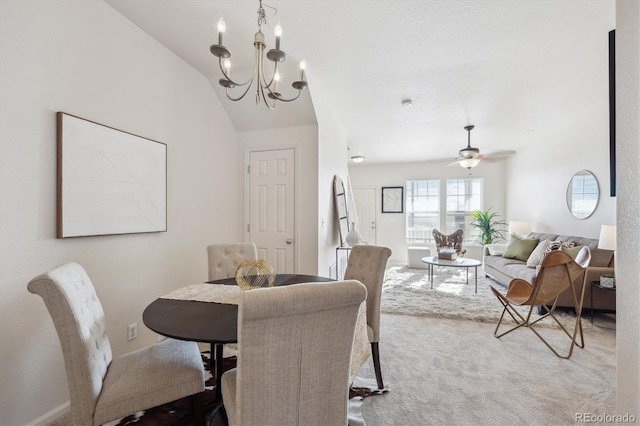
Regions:
[[249, 153], [249, 241], [279, 274], [295, 272], [293, 149]]

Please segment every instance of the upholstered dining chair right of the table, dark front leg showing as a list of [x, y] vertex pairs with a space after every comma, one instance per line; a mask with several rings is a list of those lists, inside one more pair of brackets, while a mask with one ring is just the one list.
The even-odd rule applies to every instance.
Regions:
[[380, 369], [380, 301], [382, 282], [391, 250], [387, 247], [358, 245], [351, 249], [345, 280], [358, 280], [367, 287], [367, 331], [371, 343], [371, 358], [379, 389], [384, 389]]

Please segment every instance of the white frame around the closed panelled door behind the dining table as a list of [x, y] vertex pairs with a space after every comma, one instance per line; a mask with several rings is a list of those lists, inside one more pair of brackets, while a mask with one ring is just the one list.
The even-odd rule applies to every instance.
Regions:
[[242, 224], [242, 235], [244, 241], [249, 241], [249, 231], [247, 230], [247, 226], [249, 225], [249, 221], [251, 220], [251, 216], [249, 214], [249, 204], [250, 204], [250, 175], [249, 175], [249, 165], [250, 156], [252, 152], [268, 152], [268, 151], [282, 151], [282, 150], [292, 150], [293, 151], [293, 273], [298, 273], [299, 269], [299, 259], [300, 259], [300, 247], [298, 244], [298, 235], [300, 235], [300, 229], [298, 228], [300, 225], [300, 221], [298, 220], [299, 216], [299, 203], [300, 199], [298, 184], [299, 175], [298, 175], [298, 164], [300, 163], [298, 149], [296, 149], [295, 145], [274, 145], [268, 146], [264, 148], [258, 147], [245, 147], [244, 148], [244, 166], [242, 169], [242, 175], [244, 176], [244, 223]]

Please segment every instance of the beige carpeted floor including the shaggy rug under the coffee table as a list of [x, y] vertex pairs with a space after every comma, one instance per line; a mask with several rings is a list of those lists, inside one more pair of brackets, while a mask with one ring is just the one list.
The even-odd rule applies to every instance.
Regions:
[[[493, 336], [501, 305], [484, 273], [478, 294], [473, 273], [469, 285], [458, 271], [436, 274], [431, 290], [426, 271], [387, 271], [380, 358], [390, 392], [363, 401], [367, 425], [574, 425], [579, 413], [615, 414], [615, 330], [583, 320], [585, 349], [563, 360], [530, 330]], [[543, 335], [568, 348], [559, 329]], [[371, 362], [358, 375], [375, 377]]]

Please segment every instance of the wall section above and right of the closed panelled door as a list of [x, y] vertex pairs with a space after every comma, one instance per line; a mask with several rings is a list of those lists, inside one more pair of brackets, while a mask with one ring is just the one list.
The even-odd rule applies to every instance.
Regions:
[[[248, 152], [262, 149], [293, 148], [296, 158], [295, 181], [295, 268], [300, 274], [317, 274], [318, 234], [315, 232], [318, 218], [318, 127], [300, 126], [268, 130], [239, 132], [240, 145], [245, 149], [245, 166]], [[246, 167], [244, 168], [246, 170]], [[245, 188], [247, 174], [245, 177]], [[246, 212], [245, 212], [246, 214]], [[247, 217], [245, 216], [245, 219]]]

